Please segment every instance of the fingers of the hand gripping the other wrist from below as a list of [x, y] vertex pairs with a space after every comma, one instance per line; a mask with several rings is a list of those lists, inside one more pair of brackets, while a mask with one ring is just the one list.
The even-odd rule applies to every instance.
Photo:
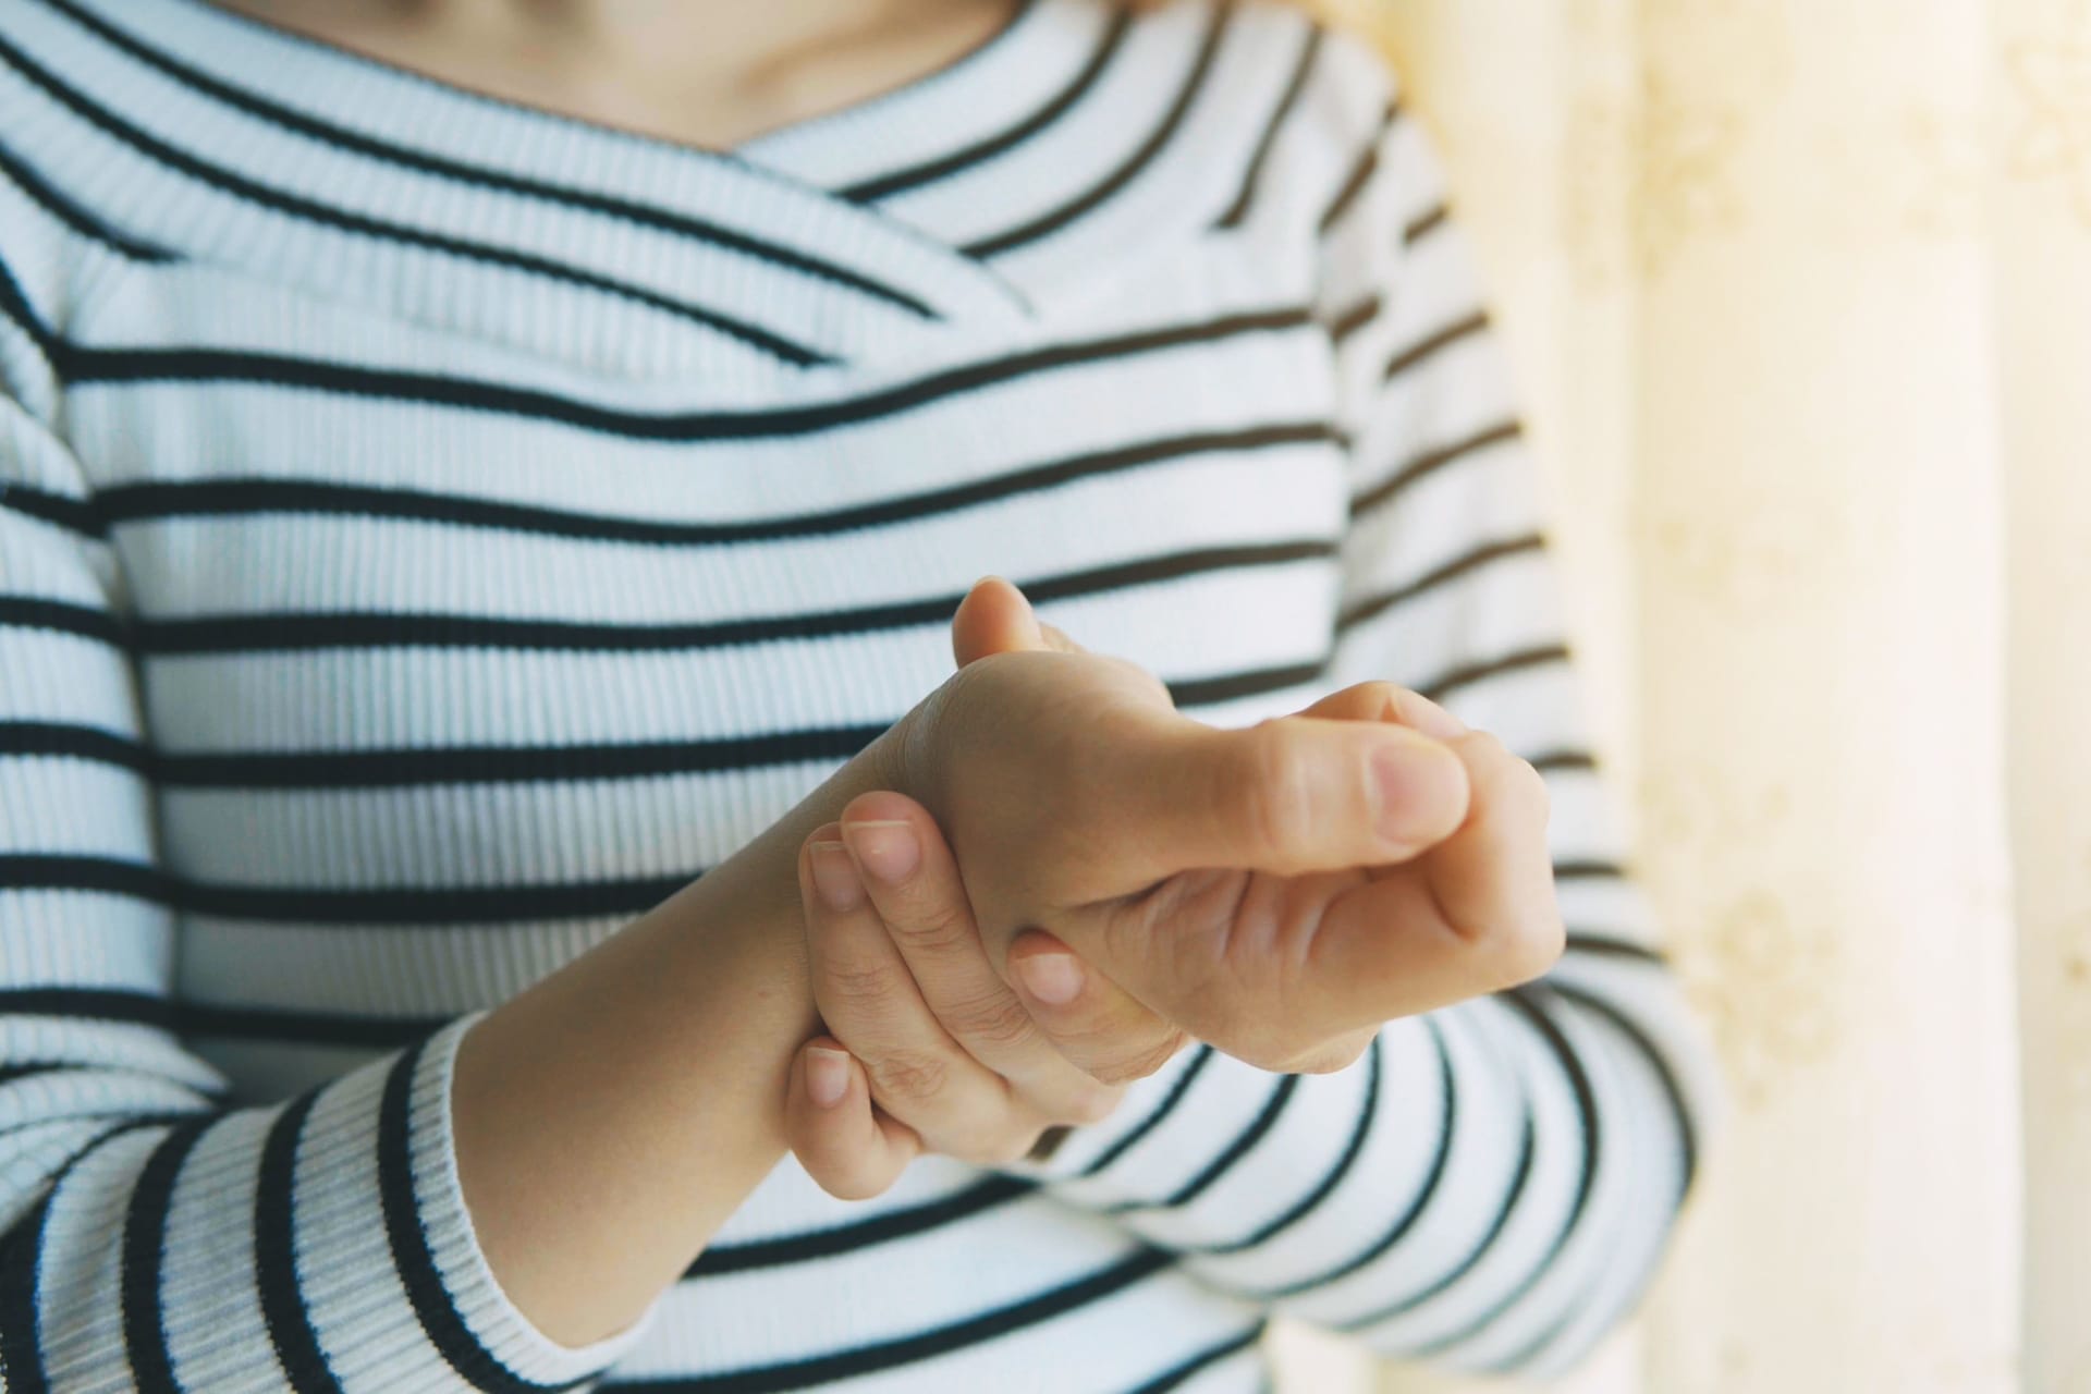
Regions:
[[1142, 1043], [1146, 1072], [1184, 1045], [1041, 932], [1010, 949], [1012, 991], [937, 821], [903, 794], [864, 794], [807, 838], [799, 895], [832, 1035], [801, 1047], [786, 1126], [830, 1195], [878, 1195], [924, 1152], [1002, 1166], [1048, 1129], [1106, 1118], [1123, 1091], [1071, 1064], [1039, 1020], [1062, 1039]]

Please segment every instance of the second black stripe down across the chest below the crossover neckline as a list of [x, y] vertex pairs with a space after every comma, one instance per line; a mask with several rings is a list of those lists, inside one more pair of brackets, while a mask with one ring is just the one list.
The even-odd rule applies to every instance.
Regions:
[[930, 518], [976, 504], [1006, 499], [1064, 485], [1079, 479], [1117, 474], [1146, 464], [1184, 456], [1253, 451], [1282, 445], [1332, 443], [1336, 433], [1328, 422], [1280, 422], [1242, 431], [1207, 431], [1194, 435], [1140, 441], [1112, 449], [1087, 451], [1029, 464], [1008, 474], [970, 479], [960, 485], [926, 489], [868, 504], [851, 504], [822, 512], [746, 518], [736, 522], [663, 522], [657, 518], [615, 518], [500, 499], [418, 489], [362, 485], [328, 485], [303, 479], [205, 479], [155, 481], [117, 485], [96, 499], [96, 510], [111, 522], [155, 522], [161, 518], [240, 516], [240, 514], [353, 514], [374, 518], [414, 518], [456, 527], [487, 527], [550, 537], [583, 537], [590, 541], [634, 541], [652, 545], [715, 545], [740, 541], [778, 541], [788, 537], [822, 537], [887, 522]]

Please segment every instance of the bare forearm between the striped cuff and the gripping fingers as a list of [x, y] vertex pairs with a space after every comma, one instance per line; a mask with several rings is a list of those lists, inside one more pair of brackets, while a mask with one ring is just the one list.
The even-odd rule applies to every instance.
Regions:
[[784, 1156], [786, 1070], [818, 1026], [797, 855], [880, 761], [466, 1035], [464, 1198], [508, 1298], [554, 1340], [638, 1321]]

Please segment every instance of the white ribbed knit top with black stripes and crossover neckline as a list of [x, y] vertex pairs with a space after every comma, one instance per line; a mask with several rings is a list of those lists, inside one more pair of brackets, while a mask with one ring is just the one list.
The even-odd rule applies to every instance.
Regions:
[[[1368, 677], [1547, 775], [1572, 947], [1050, 1162], [780, 1166], [636, 1329], [464, 1210], [489, 1005], [730, 857], [1002, 573], [1213, 723]], [[199, 0], [0, 4], [10, 1392], [1246, 1390], [1560, 1369], [1713, 1091], [1621, 876], [1441, 176], [1290, 8], [1033, 0], [732, 153]]]

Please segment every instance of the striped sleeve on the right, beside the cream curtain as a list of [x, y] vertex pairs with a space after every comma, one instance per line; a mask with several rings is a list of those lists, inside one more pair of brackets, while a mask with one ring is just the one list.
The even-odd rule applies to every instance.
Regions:
[[1192, 1051], [1041, 1175], [1269, 1310], [1388, 1356], [1545, 1375], [1646, 1287], [1713, 1066], [1621, 869], [1529, 451], [1437, 163], [1384, 84], [1324, 86], [1370, 134], [1315, 205], [1351, 472], [1319, 686], [1399, 681], [1543, 771], [1570, 947], [1537, 984], [1386, 1026], [1338, 1074]]

